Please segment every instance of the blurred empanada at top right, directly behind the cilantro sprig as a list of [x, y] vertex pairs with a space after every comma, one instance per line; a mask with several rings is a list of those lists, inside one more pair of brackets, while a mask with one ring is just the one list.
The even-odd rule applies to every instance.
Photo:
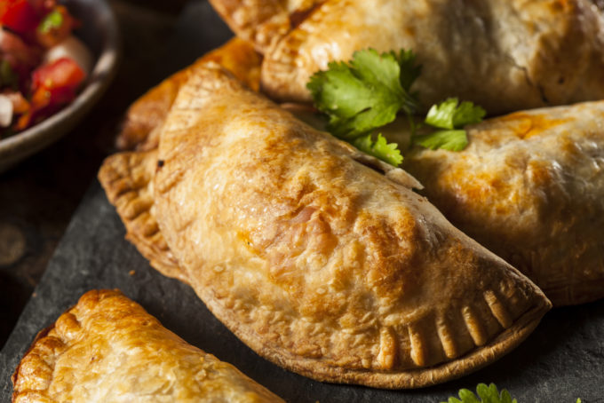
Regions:
[[308, 101], [314, 72], [366, 48], [417, 53], [424, 107], [455, 96], [497, 115], [604, 98], [604, 23], [588, 0], [330, 0], [265, 53], [262, 88]]

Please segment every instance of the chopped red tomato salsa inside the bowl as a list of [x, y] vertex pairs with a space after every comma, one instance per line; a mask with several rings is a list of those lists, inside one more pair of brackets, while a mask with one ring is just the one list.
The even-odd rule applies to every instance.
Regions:
[[0, 0], [0, 139], [76, 98], [92, 61], [78, 24], [57, 0]]

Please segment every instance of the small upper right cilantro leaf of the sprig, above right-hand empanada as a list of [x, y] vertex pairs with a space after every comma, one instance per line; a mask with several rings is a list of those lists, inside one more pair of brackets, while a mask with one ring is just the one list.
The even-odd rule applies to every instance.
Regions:
[[449, 98], [438, 105], [433, 105], [425, 118], [425, 122], [440, 129], [462, 129], [466, 124], [478, 123], [487, 115], [481, 107], [472, 102], [464, 101], [457, 105], [459, 99]]

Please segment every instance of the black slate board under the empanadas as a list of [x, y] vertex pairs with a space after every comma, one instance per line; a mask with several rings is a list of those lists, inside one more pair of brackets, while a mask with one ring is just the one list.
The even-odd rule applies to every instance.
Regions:
[[[183, 15], [174, 37], [179, 55], [171, 59], [172, 69], [230, 35], [205, 2], [193, 2]], [[290, 402], [440, 402], [460, 388], [491, 382], [508, 389], [520, 403], [574, 403], [576, 398], [604, 402], [604, 301], [549, 312], [517, 350], [455, 382], [417, 391], [318, 383], [258, 357], [211, 315], [191, 288], [155, 272], [124, 241], [124, 233], [115, 209], [95, 183], [0, 352], [0, 401], [10, 401], [10, 375], [40, 329], [76, 304], [84, 292], [120, 288], [188, 343], [234, 364]]]

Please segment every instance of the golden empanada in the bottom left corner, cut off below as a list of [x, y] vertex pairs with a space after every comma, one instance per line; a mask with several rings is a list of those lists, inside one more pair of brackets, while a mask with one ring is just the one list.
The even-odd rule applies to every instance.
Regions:
[[12, 375], [20, 402], [279, 402], [118, 291], [90, 291], [42, 331]]

